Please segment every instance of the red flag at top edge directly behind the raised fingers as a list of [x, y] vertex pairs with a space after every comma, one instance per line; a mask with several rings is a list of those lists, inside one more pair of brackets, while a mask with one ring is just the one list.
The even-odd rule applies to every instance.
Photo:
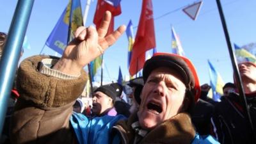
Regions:
[[113, 3], [108, 3], [108, 1], [106, 0], [98, 0], [97, 8], [96, 8], [94, 19], [93, 19], [93, 23], [96, 25], [96, 29], [99, 28], [102, 18], [104, 16], [104, 13], [108, 10], [112, 14], [111, 22], [109, 24], [108, 34], [114, 31], [114, 17], [122, 13], [120, 1], [118, 1], [117, 3], [118, 4], [113, 4]]

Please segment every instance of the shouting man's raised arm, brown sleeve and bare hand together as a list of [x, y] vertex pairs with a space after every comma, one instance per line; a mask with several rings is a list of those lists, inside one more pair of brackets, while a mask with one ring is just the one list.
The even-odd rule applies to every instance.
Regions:
[[40, 72], [44, 56], [33, 56], [20, 64], [17, 77], [20, 98], [12, 116], [12, 143], [77, 143], [69, 120], [72, 104], [83, 92], [87, 80], [83, 67], [125, 31], [121, 26], [105, 36], [110, 20], [111, 14], [106, 12], [98, 31], [92, 26], [77, 29], [75, 39], [53, 65], [56, 73], [67, 74], [71, 79]]

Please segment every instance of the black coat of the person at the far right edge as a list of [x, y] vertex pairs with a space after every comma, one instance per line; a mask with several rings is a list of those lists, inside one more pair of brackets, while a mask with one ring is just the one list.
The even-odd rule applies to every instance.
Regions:
[[[246, 95], [254, 130], [256, 129], [256, 93]], [[242, 144], [253, 142], [253, 133], [245, 115], [238, 93], [230, 93], [222, 97], [216, 104], [213, 124], [217, 138], [223, 144]]]

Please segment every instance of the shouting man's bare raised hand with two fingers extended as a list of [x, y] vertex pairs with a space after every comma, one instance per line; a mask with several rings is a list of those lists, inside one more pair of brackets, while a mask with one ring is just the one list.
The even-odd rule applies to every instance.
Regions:
[[66, 74], [79, 74], [86, 64], [100, 56], [124, 33], [125, 26], [120, 26], [106, 36], [110, 20], [111, 13], [107, 11], [98, 31], [93, 26], [77, 28], [75, 39], [68, 44], [63, 56], [53, 68]]

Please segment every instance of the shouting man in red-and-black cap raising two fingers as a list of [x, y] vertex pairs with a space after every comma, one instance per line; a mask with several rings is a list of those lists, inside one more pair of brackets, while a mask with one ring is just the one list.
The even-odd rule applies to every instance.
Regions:
[[[188, 113], [200, 85], [191, 61], [175, 54], [157, 53], [146, 61], [140, 108], [128, 119], [72, 113], [87, 79], [83, 67], [125, 31], [121, 26], [106, 36], [110, 21], [106, 12], [98, 30], [78, 28], [60, 60], [33, 56], [21, 63], [12, 143], [218, 143], [211, 136], [198, 136], [191, 124]], [[52, 68], [44, 65], [45, 58]]]

